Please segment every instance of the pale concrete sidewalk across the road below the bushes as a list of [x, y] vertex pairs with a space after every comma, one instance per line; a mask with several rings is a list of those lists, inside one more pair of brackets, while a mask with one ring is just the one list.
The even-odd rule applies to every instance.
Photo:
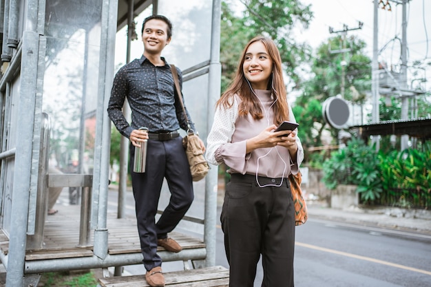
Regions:
[[314, 201], [307, 202], [307, 209], [308, 218], [310, 219], [324, 219], [364, 226], [395, 228], [431, 235], [431, 211], [394, 207], [331, 209], [325, 203]]

